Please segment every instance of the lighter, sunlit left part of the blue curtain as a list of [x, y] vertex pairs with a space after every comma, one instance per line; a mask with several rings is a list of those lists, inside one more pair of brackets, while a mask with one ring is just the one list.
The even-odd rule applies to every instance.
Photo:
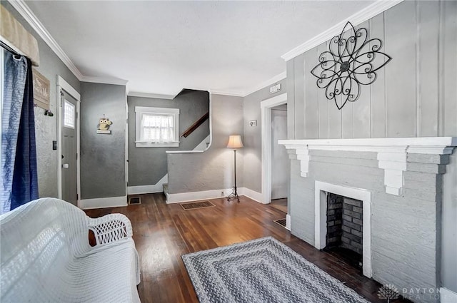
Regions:
[[[0, 51], [2, 51], [1, 48]], [[26, 71], [26, 58], [17, 58], [9, 51], [4, 51], [4, 100], [1, 113], [1, 213], [11, 210], [14, 163]]]

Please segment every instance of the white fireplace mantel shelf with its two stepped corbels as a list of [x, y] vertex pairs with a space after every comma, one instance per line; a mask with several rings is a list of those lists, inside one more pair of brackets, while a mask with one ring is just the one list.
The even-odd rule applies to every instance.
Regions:
[[309, 150], [375, 152], [378, 168], [384, 170], [386, 192], [401, 195], [407, 154], [449, 155], [457, 146], [457, 137], [278, 140], [278, 143], [295, 150], [302, 177], [308, 177]]

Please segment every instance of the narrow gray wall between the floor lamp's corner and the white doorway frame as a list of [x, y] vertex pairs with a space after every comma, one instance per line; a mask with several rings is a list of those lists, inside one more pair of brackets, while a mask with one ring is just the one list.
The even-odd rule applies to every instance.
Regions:
[[[281, 91], [270, 93], [269, 86], [243, 98], [244, 118], [244, 187], [261, 192], [262, 190], [262, 123], [260, 103], [268, 98], [287, 93], [286, 79], [279, 81]], [[250, 120], [257, 120], [257, 126], [250, 126]]]

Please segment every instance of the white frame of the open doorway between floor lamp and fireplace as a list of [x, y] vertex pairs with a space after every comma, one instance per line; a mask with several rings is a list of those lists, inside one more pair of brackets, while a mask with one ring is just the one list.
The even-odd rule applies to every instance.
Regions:
[[262, 119], [262, 203], [271, 202], [271, 108], [287, 103], [287, 93], [260, 103]]

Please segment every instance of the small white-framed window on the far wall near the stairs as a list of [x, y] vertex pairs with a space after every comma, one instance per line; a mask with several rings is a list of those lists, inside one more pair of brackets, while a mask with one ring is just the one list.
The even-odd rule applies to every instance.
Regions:
[[179, 108], [135, 106], [137, 148], [178, 147]]

